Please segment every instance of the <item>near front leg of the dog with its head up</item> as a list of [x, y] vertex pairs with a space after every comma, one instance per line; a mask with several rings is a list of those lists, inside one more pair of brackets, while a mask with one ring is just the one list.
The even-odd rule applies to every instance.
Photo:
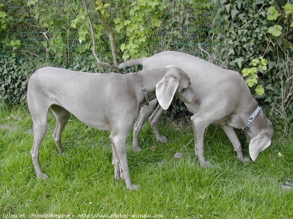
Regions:
[[117, 165], [117, 163], [114, 164], [115, 171], [117, 171], [118, 174], [118, 168], [120, 168], [120, 177], [124, 180], [127, 189], [137, 190], [138, 186], [132, 184], [130, 180], [129, 168], [126, 157], [126, 137], [111, 133], [110, 139], [112, 142], [113, 151], [115, 151], [113, 152], [113, 155], [114, 153], [116, 153], [116, 157], [119, 162], [119, 165]]

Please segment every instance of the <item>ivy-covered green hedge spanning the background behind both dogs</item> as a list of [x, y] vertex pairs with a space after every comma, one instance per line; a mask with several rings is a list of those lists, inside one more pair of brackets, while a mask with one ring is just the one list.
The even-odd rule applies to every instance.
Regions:
[[109, 72], [95, 60], [91, 33], [97, 55], [111, 61], [110, 28], [120, 61], [163, 50], [197, 55], [241, 73], [262, 106], [290, 121], [292, 22], [285, 0], [7, 0], [0, 3], [0, 101], [25, 100], [27, 79], [42, 66]]

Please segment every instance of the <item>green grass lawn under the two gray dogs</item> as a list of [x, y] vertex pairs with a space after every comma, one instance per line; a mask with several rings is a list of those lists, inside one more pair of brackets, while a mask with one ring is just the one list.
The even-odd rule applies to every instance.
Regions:
[[[208, 128], [205, 155], [213, 164], [201, 168], [194, 154], [191, 125], [165, 119], [162, 133], [169, 143], [157, 143], [146, 124], [142, 153], [127, 139], [127, 158], [138, 191], [116, 181], [111, 164], [109, 132], [87, 128], [71, 117], [63, 131], [65, 153], [52, 139], [55, 118], [49, 113], [48, 132], [40, 163], [49, 180], [37, 180], [30, 149], [32, 122], [25, 108], [0, 110], [0, 217], [3, 214], [149, 214], [166, 219], [293, 218], [293, 137], [275, 133], [272, 146], [255, 162], [242, 164], [224, 132]], [[156, 146], [156, 150], [151, 149]], [[176, 152], [182, 159], [174, 158]], [[244, 152], [248, 155], [248, 146]], [[283, 156], [279, 156], [280, 152]], [[113, 216], [113, 215], [112, 215]]]

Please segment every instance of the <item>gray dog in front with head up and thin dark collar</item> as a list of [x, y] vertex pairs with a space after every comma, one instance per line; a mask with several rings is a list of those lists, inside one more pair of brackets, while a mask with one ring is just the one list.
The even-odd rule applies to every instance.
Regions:
[[141, 107], [157, 98], [167, 109], [174, 96], [194, 104], [197, 96], [186, 73], [175, 66], [138, 73], [82, 73], [45, 67], [29, 79], [27, 103], [33, 119], [34, 143], [31, 156], [38, 178], [47, 179], [39, 162], [39, 151], [47, 131], [47, 114], [51, 109], [57, 125], [53, 134], [56, 146], [63, 152], [61, 135], [69, 112], [89, 127], [110, 130], [114, 175], [131, 183], [126, 158], [126, 137]]

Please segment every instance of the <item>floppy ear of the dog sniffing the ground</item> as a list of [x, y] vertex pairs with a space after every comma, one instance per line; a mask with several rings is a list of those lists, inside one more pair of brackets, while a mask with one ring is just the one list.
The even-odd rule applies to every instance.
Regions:
[[265, 132], [261, 132], [256, 137], [252, 138], [249, 144], [249, 154], [251, 156], [251, 160], [255, 161], [259, 152], [263, 151], [270, 145], [271, 139]]

